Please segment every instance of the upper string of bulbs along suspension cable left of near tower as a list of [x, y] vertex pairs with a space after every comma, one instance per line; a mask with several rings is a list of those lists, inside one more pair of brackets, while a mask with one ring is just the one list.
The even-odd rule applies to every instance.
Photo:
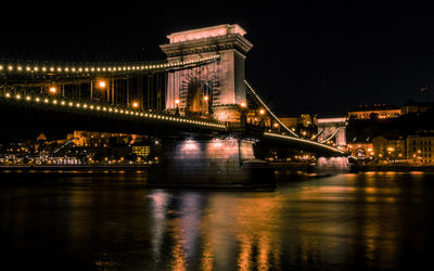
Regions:
[[141, 72], [141, 70], [154, 70], [154, 69], [167, 69], [182, 67], [186, 65], [197, 65], [209, 61], [215, 61], [219, 59], [220, 55], [212, 55], [207, 57], [202, 57], [199, 60], [189, 61], [174, 61], [174, 62], [162, 62], [152, 64], [137, 64], [137, 65], [37, 65], [34, 63], [0, 63], [0, 72], [9, 73], [51, 73], [51, 74], [62, 74], [62, 73], [116, 73], [116, 72]]

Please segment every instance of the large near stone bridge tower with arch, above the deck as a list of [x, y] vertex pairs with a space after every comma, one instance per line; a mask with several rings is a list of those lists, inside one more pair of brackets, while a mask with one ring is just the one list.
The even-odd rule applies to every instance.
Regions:
[[246, 104], [244, 60], [253, 44], [238, 24], [226, 24], [174, 33], [161, 46], [169, 63], [219, 56], [199, 67], [174, 69], [168, 74], [166, 109], [182, 115], [213, 115], [222, 121], [240, 121]]

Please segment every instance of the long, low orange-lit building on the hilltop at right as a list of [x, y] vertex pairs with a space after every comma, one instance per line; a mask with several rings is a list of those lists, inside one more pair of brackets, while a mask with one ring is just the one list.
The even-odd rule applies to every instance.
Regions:
[[396, 118], [399, 115], [399, 107], [387, 104], [359, 105], [348, 111], [349, 119], [386, 119]]

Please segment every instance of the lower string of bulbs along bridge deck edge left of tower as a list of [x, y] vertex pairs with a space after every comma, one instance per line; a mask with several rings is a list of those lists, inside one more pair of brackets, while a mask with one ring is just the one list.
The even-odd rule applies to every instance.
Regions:
[[104, 105], [91, 104], [91, 103], [80, 103], [77, 101], [66, 101], [66, 100], [56, 100], [56, 99], [48, 99], [48, 98], [40, 98], [40, 96], [30, 96], [30, 95], [23, 95], [20, 93], [11, 94], [9, 92], [4, 93], [4, 98], [16, 101], [16, 102], [24, 102], [24, 103], [38, 103], [38, 104], [46, 104], [46, 105], [51, 105], [51, 106], [76, 108], [76, 109], [80, 109], [80, 111], [90, 111], [90, 112], [95, 111], [95, 112], [102, 112], [102, 113], [106, 113], [106, 114], [127, 115], [127, 116], [137, 117], [137, 118], [157, 119], [157, 120], [162, 120], [162, 121], [181, 122], [181, 124], [186, 124], [186, 125], [195, 125], [195, 126], [202, 126], [202, 127], [226, 129], [226, 125], [220, 121], [190, 119], [190, 118], [184, 118], [184, 117], [174, 116], [174, 115], [140, 112], [140, 111], [133, 111], [133, 109], [128, 109], [128, 108], [104, 106]]

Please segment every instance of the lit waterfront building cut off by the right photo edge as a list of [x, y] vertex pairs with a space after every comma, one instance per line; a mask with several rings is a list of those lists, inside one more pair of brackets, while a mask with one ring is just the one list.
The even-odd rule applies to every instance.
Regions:
[[434, 164], [434, 132], [408, 136], [407, 158], [412, 164]]

